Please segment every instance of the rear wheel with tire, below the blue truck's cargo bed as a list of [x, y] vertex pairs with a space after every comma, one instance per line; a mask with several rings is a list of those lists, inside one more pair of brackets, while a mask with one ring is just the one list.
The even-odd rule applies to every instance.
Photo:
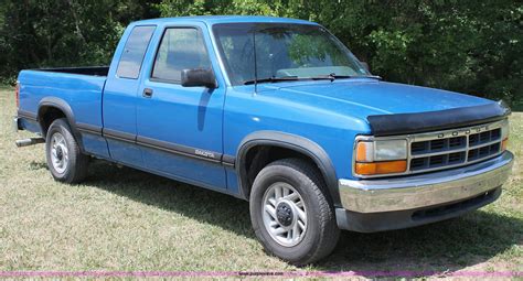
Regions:
[[54, 180], [79, 183], [87, 175], [89, 158], [82, 154], [71, 127], [63, 118], [51, 123], [45, 138], [45, 158]]

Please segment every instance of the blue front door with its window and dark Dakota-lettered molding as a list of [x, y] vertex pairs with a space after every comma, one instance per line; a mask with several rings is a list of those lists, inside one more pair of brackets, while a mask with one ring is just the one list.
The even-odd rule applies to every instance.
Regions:
[[137, 142], [148, 169], [189, 183], [226, 188], [221, 165], [225, 87], [180, 85], [182, 69], [216, 69], [203, 28], [166, 28], [141, 85]]

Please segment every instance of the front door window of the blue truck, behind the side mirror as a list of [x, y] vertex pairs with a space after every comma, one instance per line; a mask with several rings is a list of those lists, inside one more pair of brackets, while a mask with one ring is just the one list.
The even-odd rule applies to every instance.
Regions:
[[211, 68], [202, 33], [193, 28], [166, 30], [151, 78], [179, 83], [183, 69]]

